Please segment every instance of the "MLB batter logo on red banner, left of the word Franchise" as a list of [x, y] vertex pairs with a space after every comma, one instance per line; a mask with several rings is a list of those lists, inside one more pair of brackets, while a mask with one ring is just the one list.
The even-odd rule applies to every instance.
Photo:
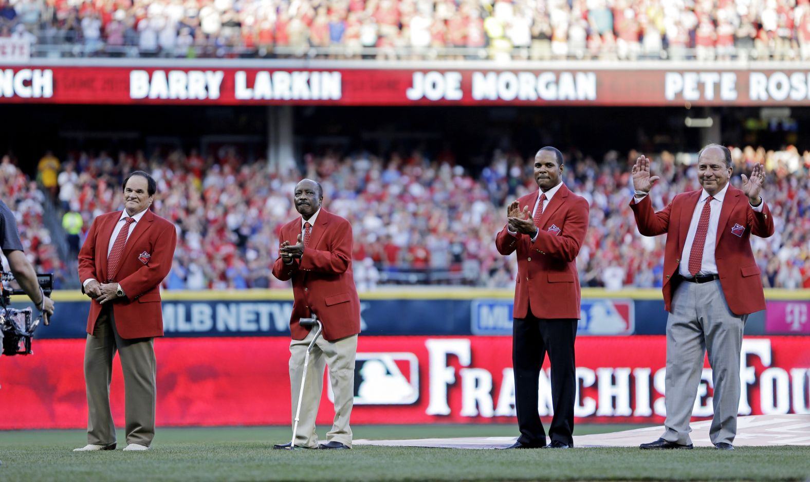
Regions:
[[[329, 383], [328, 396], [335, 400]], [[355, 405], [410, 405], [419, 400], [419, 359], [409, 352], [357, 353]]]

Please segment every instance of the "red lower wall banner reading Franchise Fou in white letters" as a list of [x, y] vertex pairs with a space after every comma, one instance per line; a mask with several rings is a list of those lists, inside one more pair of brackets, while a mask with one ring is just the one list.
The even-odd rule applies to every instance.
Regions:
[[[288, 343], [282, 337], [157, 339], [158, 424], [290, 423]], [[582, 337], [576, 350], [579, 422], [663, 421], [663, 336]], [[83, 340], [36, 340], [34, 351], [0, 360], [0, 429], [86, 427]], [[807, 339], [746, 338], [740, 379], [741, 415], [810, 413]], [[116, 363], [113, 416], [119, 425], [123, 389]], [[547, 362], [540, 376], [542, 416], [552, 413], [550, 394]], [[711, 416], [712, 394], [706, 364], [694, 416]], [[318, 424], [334, 416], [329, 398], [325, 390]], [[514, 421], [509, 337], [360, 337], [353, 423]]]

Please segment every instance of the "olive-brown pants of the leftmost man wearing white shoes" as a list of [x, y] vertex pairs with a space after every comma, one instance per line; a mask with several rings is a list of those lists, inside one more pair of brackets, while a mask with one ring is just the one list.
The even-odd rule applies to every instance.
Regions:
[[155, 339], [122, 339], [115, 327], [112, 305], [101, 310], [93, 334], [87, 335], [84, 351], [87, 443], [109, 446], [116, 442], [113, 414], [109, 408], [115, 352], [118, 352], [124, 372], [126, 443], [148, 447], [155, 437]]

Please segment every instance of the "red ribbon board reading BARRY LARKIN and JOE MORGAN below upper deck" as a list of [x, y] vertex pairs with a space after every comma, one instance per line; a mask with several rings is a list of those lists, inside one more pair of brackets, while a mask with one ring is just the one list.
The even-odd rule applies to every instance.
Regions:
[[0, 103], [810, 105], [810, 70], [0, 66]]

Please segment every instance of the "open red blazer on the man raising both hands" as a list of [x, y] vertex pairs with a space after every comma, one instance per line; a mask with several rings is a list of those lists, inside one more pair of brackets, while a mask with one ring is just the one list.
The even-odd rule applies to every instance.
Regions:
[[[653, 211], [650, 196], [643, 198], [640, 203], [630, 202], [630, 208], [636, 215], [638, 232], [644, 236], [667, 233], [663, 257], [663, 301], [669, 312], [672, 311], [672, 294], [677, 286], [670, 281], [678, 273], [680, 254], [684, 251], [689, 224], [692, 222], [697, 201], [701, 198], [701, 191], [699, 189], [678, 194], [667, 207], [658, 212]], [[745, 227], [742, 236], [731, 232], [735, 224]], [[752, 234], [758, 237], [770, 237], [774, 234], [774, 219], [770, 215], [770, 209], [765, 204], [762, 212], [754, 211], [743, 191], [728, 186], [720, 210], [714, 254], [723, 295], [729, 309], [736, 315], [752, 314], [765, 309], [760, 269], [751, 250]], [[684, 259], [684, 262], [689, 260]]]

